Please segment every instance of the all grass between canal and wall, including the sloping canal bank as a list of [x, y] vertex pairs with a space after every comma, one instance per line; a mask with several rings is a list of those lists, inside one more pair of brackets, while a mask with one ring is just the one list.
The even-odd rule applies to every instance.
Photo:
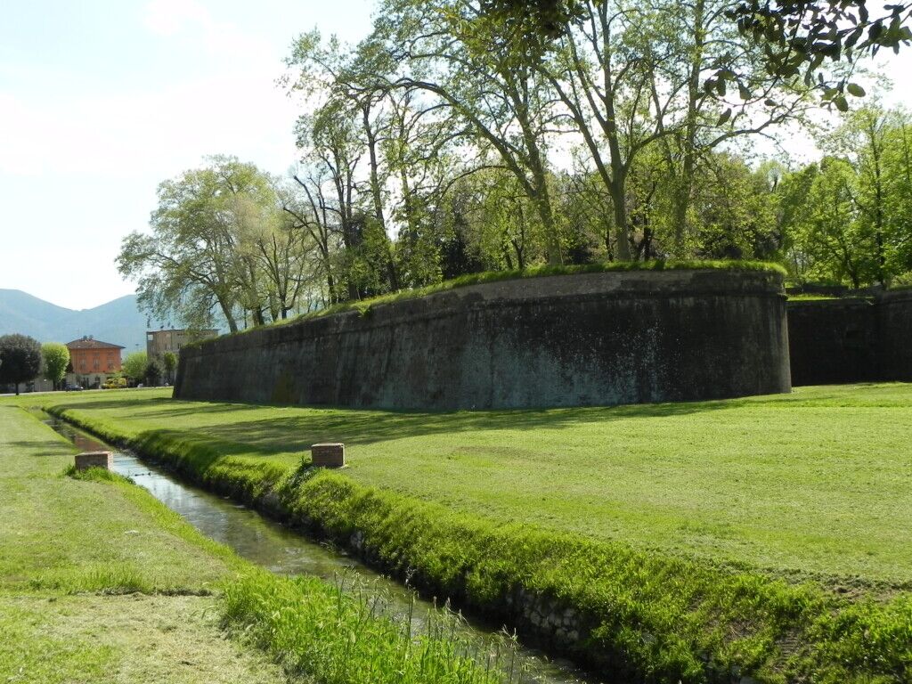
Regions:
[[[224, 492], [275, 492], [469, 605], [572, 606], [579, 655], [622, 677], [912, 680], [912, 386], [432, 414], [20, 401]], [[351, 466], [299, 469], [320, 440], [345, 441]]]

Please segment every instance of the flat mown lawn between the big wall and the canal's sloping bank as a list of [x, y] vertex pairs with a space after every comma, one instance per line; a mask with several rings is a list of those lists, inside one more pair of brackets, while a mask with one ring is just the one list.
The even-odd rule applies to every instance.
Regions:
[[449, 413], [170, 399], [170, 389], [3, 399], [133, 437], [169, 430], [293, 469], [343, 441], [352, 480], [496, 523], [825, 583], [909, 586], [912, 385], [592, 409]]

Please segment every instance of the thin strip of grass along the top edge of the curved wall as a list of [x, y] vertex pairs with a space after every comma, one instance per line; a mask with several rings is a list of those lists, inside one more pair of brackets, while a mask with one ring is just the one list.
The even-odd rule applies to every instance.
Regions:
[[[342, 314], [348, 311], [358, 311], [364, 315], [373, 306], [381, 306], [401, 302], [407, 299], [418, 299], [428, 295], [436, 295], [440, 292], [455, 290], [459, 287], [468, 287], [470, 285], [483, 285], [485, 283], [500, 283], [505, 280], [519, 280], [522, 278], [541, 278], [550, 275], [579, 275], [587, 273], [613, 273], [628, 271], [699, 271], [699, 270], [719, 270], [719, 271], [761, 271], [769, 273], [778, 273], [786, 275], [785, 268], [780, 264], [772, 264], [762, 261], [734, 261], [734, 260], [703, 260], [703, 261], [645, 261], [645, 262], [606, 262], [599, 264], [578, 264], [569, 266], [533, 266], [522, 270], [513, 271], [485, 271], [483, 273], [461, 275], [458, 278], [444, 280], [442, 283], [427, 285], [425, 287], [416, 287], [411, 290], [402, 290], [400, 292], [390, 293], [389, 295], [379, 295], [368, 299], [359, 299], [351, 302], [341, 302], [317, 311], [310, 311], [306, 314], [294, 316], [281, 321], [275, 321], [267, 326], [248, 327], [244, 330], [238, 330], [235, 333], [228, 333], [226, 336], [244, 335], [244, 333], [253, 330], [262, 330], [264, 327], [290, 326], [300, 323], [304, 320], [318, 318], [322, 316], [332, 316], [333, 314]], [[202, 347], [202, 345], [212, 342], [213, 338], [198, 340], [185, 347]], [[219, 339], [215, 337], [214, 339]]]

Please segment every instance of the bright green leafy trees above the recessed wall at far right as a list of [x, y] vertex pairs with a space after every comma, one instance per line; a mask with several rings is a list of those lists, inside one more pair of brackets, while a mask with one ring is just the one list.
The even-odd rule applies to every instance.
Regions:
[[782, 183], [793, 275], [887, 285], [912, 268], [912, 120], [873, 105], [823, 142], [830, 156]]

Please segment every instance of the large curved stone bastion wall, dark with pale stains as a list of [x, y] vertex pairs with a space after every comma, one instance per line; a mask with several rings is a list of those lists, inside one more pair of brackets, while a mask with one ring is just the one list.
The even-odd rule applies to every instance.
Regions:
[[723, 399], [791, 389], [782, 275], [468, 285], [184, 347], [174, 396], [383, 409]]

